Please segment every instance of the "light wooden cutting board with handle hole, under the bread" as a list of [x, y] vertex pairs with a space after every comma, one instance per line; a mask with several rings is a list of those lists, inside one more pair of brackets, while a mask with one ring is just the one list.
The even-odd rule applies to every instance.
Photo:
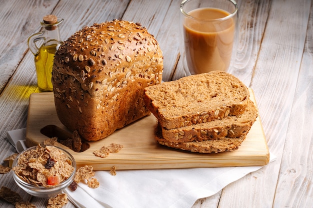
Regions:
[[[250, 97], [255, 102], [253, 92], [249, 90]], [[112, 166], [115, 166], [116, 170], [263, 166], [269, 161], [268, 147], [259, 117], [238, 150], [217, 154], [191, 153], [158, 145], [153, 136], [156, 123], [156, 118], [151, 114], [115, 131], [105, 139], [87, 142], [90, 147], [80, 153], [59, 146], [73, 155], [77, 167], [91, 165], [94, 170], [109, 170]], [[71, 135], [57, 118], [53, 93], [31, 94], [26, 128], [28, 147], [37, 143], [43, 144], [48, 137], [41, 134], [40, 130], [48, 125], [54, 125]], [[106, 158], [93, 155], [94, 150], [111, 143], [123, 145], [123, 148]]]

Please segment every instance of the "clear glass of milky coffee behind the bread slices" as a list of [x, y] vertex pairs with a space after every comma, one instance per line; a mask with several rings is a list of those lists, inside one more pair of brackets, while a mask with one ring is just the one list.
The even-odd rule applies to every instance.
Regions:
[[183, 0], [180, 11], [180, 57], [186, 75], [227, 71], [238, 20], [236, 2]]

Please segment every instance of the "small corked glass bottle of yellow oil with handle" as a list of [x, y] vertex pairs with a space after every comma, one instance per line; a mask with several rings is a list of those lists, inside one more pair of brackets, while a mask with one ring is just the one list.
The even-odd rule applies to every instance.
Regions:
[[[28, 38], [28, 47], [34, 54], [37, 85], [40, 91], [52, 91], [52, 65], [54, 54], [63, 43], [60, 40], [59, 24], [63, 19], [46, 15], [41, 22], [43, 30]], [[41, 44], [38, 46], [38, 44]]]

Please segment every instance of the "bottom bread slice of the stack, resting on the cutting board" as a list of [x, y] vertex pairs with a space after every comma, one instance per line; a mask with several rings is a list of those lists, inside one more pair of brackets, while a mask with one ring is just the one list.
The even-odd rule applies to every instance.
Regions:
[[244, 133], [239, 137], [234, 138], [224, 137], [216, 140], [205, 140], [201, 142], [170, 142], [162, 137], [160, 128], [161, 127], [158, 124], [155, 131], [155, 140], [160, 145], [197, 153], [219, 153], [237, 150], [241, 143], [245, 140], [247, 134]]

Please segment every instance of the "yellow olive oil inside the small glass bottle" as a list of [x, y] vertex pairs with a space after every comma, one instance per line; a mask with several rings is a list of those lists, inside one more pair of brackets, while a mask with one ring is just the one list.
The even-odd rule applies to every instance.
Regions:
[[57, 46], [57, 44], [41, 45], [38, 54], [34, 57], [37, 84], [41, 91], [52, 91], [52, 65]]

